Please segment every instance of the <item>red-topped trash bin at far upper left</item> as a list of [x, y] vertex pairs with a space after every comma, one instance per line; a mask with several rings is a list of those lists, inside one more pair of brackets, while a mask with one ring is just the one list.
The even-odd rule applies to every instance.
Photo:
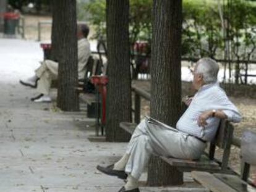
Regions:
[[4, 14], [4, 34], [15, 34], [15, 28], [19, 25], [19, 18], [20, 15], [14, 12], [6, 12]]

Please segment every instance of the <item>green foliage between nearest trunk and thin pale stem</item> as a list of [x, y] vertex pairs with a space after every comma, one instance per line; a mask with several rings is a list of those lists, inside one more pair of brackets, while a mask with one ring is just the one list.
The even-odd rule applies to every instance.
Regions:
[[209, 1], [184, 1], [182, 55], [215, 57], [223, 48], [218, 5]]

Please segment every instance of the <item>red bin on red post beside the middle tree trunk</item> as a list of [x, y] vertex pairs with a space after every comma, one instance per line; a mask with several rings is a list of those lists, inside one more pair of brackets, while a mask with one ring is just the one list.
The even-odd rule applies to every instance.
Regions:
[[106, 75], [93, 75], [91, 78], [91, 83], [95, 85], [98, 89], [99, 93], [101, 94], [102, 98], [102, 119], [101, 123], [105, 125], [106, 123], [106, 85], [108, 84], [108, 77]]

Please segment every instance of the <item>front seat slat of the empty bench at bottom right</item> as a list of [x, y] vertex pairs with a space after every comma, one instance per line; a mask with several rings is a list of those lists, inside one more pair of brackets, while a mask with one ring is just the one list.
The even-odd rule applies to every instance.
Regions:
[[192, 177], [212, 192], [237, 192], [208, 172], [192, 172]]

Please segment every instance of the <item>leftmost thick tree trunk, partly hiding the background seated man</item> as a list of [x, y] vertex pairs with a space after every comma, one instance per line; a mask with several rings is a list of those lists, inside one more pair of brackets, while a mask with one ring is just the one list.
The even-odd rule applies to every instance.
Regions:
[[[53, 1], [52, 58], [59, 62], [57, 106], [63, 111], [79, 111], [77, 86], [76, 2]], [[54, 50], [55, 49], [55, 50]]]

